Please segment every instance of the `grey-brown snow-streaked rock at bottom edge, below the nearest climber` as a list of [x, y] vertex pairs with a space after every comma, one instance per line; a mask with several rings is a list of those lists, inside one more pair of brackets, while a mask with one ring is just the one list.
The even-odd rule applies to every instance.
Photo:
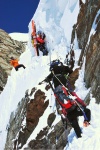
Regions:
[[62, 150], [67, 144], [67, 136], [70, 132], [70, 129], [71, 126], [68, 126], [66, 130], [62, 121], [59, 121], [54, 127], [50, 129], [46, 127], [40, 131], [36, 139], [30, 141], [28, 147], [24, 148], [24, 150]]

